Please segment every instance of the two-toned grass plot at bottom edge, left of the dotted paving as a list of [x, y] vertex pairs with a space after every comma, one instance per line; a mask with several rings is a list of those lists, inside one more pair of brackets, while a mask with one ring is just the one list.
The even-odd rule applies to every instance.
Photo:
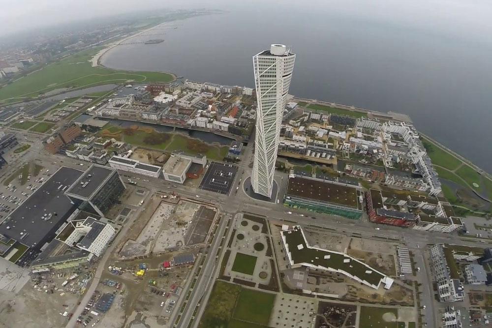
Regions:
[[275, 294], [216, 281], [199, 328], [267, 328]]

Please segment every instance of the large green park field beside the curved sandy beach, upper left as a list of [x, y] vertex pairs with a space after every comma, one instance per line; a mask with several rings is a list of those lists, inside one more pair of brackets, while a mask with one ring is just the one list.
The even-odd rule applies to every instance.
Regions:
[[160, 72], [126, 72], [92, 67], [91, 58], [102, 47], [81, 51], [22, 77], [0, 89], [0, 101], [15, 102], [37, 97], [53, 89], [80, 89], [110, 83], [170, 82], [173, 76]]

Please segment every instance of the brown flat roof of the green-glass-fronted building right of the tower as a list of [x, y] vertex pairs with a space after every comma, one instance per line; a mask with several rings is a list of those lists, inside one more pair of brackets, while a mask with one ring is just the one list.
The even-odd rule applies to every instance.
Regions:
[[329, 181], [297, 176], [289, 178], [285, 195], [360, 209], [356, 188]]

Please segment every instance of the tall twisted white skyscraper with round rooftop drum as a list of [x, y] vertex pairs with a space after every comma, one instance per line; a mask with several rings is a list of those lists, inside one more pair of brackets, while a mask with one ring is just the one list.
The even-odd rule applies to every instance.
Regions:
[[251, 184], [253, 191], [272, 197], [280, 126], [296, 55], [281, 44], [253, 57], [256, 137]]

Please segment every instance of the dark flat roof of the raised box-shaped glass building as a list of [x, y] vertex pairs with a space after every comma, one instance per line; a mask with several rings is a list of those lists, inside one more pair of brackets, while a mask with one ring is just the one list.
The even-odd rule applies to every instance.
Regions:
[[93, 164], [77, 181], [66, 191], [67, 195], [75, 195], [90, 199], [104, 184], [115, 169]]

